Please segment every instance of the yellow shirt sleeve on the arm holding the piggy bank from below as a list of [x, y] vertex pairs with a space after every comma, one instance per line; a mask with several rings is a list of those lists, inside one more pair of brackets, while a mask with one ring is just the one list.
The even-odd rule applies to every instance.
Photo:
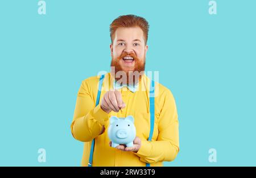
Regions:
[[171, 91], [168, 90], [166, 93], [159, 116], [158, 139], [152, 142], [141, 140], [141, 148], [134, 153], [144, 163], [170, 162], [179, 152], [179, 121], [176, 104]]

